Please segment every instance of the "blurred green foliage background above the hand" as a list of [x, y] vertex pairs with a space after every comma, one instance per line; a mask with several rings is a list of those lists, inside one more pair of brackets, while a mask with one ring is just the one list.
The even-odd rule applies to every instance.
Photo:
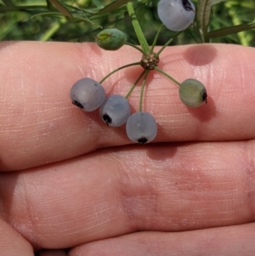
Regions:
[[[159, 0], [133, 1], [144, 36], [151, 44], [161, 26], [157, 16]], [[130, 43], [138, 43], [125, 6], [100, 14], [113, 0], [4, 0], [0, 1], [0, 40], [41, 40], [94, 42], [97, 33], [106, 27], [116, 27], [127, 34]], [[197, 5], [197, 1], [193, 1]], [[58, 6], [59, 3], [59, 6]], [[212, 7], [209, 31], [255, 22], [254, 0], [228, 0]], [[163, 29], [157, 44], [163, 45], [174, 32]], [[216, 37], [213, 43], [238, 43], [255, 46], [255, 31], [242, 31]], [[201, 43], [195, 22], [172, 44]]]

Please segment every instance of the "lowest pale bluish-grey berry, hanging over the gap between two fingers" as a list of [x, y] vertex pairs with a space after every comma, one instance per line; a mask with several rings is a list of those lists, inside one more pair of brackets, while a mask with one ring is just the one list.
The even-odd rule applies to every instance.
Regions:
[[127, 119], [126, 132], [127, 137], [133, 142], [140, 144], [150, 142], [156, 137], [156, 121], [148, 112], [135, 112]]

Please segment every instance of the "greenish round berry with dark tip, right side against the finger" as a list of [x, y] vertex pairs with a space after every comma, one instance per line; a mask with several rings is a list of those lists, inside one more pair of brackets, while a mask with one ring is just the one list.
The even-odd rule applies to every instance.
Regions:
[[207, 89], [195, 79], [186, 79], [178, 88], [180, 100], [189, 107], [199, 107], [207, 103]]

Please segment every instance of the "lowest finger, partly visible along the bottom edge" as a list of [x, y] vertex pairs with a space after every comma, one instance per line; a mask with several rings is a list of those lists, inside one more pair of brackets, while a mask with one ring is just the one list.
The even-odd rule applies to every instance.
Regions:
[[70, 256], [252, 256], [255, 223], [185, 232], [137, 232], [71, 250]]

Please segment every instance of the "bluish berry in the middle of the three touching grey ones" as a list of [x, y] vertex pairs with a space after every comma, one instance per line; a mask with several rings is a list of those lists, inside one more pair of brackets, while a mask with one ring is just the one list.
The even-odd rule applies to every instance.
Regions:
[[99, 115], [111, 127], [122, 126], [130, 116], [130, 106], [125, 97], [112, 94], [100, 106]]

